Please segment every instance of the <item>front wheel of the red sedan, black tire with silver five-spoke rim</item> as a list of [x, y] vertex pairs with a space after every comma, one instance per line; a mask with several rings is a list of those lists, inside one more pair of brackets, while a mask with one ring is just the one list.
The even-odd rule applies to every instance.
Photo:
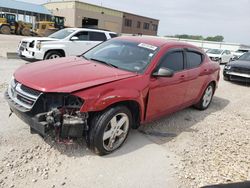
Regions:
[[86, 137], [89, 148], [98, 155], [117, 150], [127, 139], [132, 122], [132, 114], [125, 106], [114, 106], [95, 114]]

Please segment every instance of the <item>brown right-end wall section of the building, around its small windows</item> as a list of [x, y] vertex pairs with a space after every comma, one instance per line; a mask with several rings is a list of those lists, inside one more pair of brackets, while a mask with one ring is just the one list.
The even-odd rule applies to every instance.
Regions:
[[[126, 20], [131, 20], [131, 26], [126, 25]], [[140, 27], [138, 27], [138, 22], [140, 22]], [[144, 23], [149, 24], [148, 29], [144, 29]], [[153, 25], [157, 28], [154, 30]], [[142, 35], [157, 35], [159, 26], [159, 20], [138, 16], [130, 13], [123, 13], [123, 23], [122, 23], [122, 33], [129, 34], [142, 34]]]

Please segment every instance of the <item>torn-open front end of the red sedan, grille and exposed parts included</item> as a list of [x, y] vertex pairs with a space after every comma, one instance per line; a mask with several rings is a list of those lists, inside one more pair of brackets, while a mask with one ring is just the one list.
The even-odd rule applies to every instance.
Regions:
[[68, 93], [43, 93], [12, 79], [5, 98], [10, 109], [26, 122], [32, 133], [57, 139], [82, 137], [88, 130], [84, 101]]

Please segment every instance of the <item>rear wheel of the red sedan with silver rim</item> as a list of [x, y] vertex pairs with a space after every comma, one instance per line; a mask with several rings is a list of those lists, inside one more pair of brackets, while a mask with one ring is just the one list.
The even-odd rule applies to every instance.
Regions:
[[195, 105], [195, 107], [199, 110], [206, 110], [210, 103], [212, 102], [214, 95], [214, 84], [210, 83], [205, 89], [200, 101]]

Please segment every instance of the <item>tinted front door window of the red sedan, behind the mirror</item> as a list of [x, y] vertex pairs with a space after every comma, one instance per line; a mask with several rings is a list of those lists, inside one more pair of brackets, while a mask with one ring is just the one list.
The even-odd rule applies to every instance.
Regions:
[[160, 67], [168, 68], [175, 72], [183, 70], [184, 69], [183, 53], [179, 51], [167, 54], [161, 61]]

